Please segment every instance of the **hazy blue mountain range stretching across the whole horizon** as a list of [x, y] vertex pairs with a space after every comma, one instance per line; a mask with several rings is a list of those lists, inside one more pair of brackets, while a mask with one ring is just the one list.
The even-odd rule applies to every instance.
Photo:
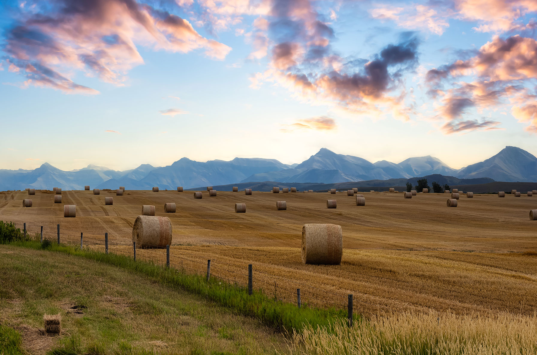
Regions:
[[84, 185], [98, 189], [147, 190], [153, 186], [175, 190], [199, 186], [247, 182], [333, 184], [364, 180], [409, 179], [427, 175], [460, 179], [490, 178], [505, 182], [537, 181], [537, 158], [517, 147], [505, 147], [498, 154], [462, 169], [450, 168], [432, 156], [411, 157], [401, 163], [336, 154], [322, 148], [300, 164], [288, 165], [273, 159], [235, 158], [231, 161], [197, 162], [181, 158], [168, 166], [142, 164], [136, 169], [115, 171], [104, 166], [63, 171], [44, 163], [34, 170], [0, 170], [1, 190], [52, 189], [81, 190]]

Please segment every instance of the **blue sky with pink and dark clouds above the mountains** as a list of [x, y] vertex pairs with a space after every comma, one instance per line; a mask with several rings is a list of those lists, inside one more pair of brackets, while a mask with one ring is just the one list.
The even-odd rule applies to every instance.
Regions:
[[535, 0], [3, 0], [0, 28], [0, 169], [537, 155]]

